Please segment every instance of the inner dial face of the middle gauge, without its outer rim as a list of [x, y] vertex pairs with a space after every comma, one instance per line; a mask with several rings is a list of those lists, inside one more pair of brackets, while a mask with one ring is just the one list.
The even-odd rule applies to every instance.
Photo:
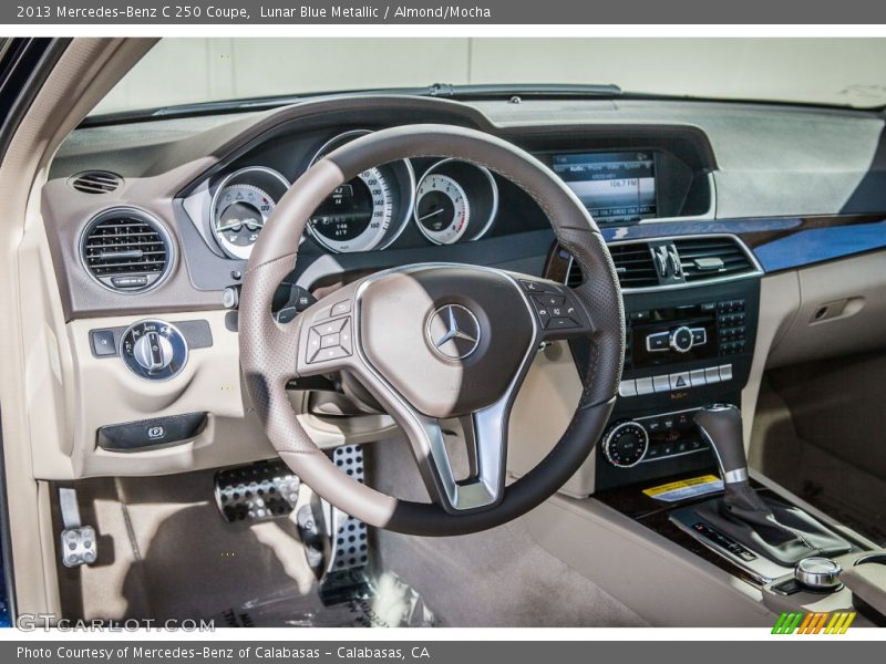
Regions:
[[388, 235], [393, 196], [378, 168], [364, 170], [338, 187], [320, 204], [308, 228], [318, 242], [333, 251], [368, 251]]

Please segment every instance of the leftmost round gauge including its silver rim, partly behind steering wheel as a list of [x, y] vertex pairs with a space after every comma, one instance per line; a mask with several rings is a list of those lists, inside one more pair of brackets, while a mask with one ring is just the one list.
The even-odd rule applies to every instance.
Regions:
[[248, 166], [219, 183], [213, 196], [212, 228], [227, 256], [249, 259], [253, 245], [288, 188], [282, 175], [264, 166]]

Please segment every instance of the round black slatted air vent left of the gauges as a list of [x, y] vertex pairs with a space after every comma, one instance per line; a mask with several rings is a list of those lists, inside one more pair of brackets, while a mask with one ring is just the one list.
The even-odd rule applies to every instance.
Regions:
[[172, 266], [173, 246], [159, 221], [132, 208], [105, 210], [83, 231], [81, 256], [90, 274], [117, 292], [157, 286]]

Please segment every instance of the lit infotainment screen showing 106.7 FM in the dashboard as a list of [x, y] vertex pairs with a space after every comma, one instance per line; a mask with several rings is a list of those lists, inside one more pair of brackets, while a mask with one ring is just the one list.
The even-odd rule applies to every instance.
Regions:
[[656, 165], [649, 152], [554, 155], [552, 167], [599, 224], [656, 216]]

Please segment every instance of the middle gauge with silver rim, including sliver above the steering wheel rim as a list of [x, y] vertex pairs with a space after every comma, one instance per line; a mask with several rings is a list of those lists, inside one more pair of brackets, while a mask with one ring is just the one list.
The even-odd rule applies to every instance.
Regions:
[[[317, 152], [309, 166], [369, 133], [356, 129], [336, 136]], [[382, 249], [409, 224], [414, 189], [415, 174], [408, 160], [369, 168], [320, 204], [308, 221], [308, 232], [332, 251]]]

